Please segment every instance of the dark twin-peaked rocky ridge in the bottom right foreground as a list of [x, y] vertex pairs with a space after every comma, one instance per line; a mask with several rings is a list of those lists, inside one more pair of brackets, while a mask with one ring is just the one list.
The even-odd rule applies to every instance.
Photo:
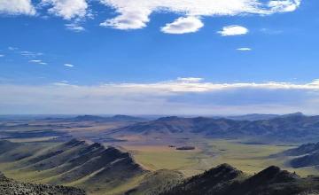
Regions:
[[[318, 177], [300, 178], [299, 175], [271, 166], [248, 176], [236, 168], [223, 164], [202, 175], [196, 175], [162, 195], [293, 195], [317, 194]], [[310, 193], [309, 191], [313, 192]], [[309, 193], [308, 193], [309, 192]]]

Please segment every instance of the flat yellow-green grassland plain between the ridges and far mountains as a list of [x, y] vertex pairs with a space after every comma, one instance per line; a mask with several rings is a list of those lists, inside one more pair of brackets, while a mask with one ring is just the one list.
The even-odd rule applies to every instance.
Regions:
[[313, 175], [315, 168], [291, 168], [287, 157], [270, 157], [271, 154], [291, 149], [292, 145], [246, 144], [238, 139], [194, 139], [195, 151], [176, 151], [168, 145], [124, 145], [132, 152], [136, 161], [145, 168], [162, 168], [181, 171], [186, 176], [197, 175], [208, 168], [228, 163], [247, 174], [254, 174], [275, 165], [296, 172], [299, 175]]

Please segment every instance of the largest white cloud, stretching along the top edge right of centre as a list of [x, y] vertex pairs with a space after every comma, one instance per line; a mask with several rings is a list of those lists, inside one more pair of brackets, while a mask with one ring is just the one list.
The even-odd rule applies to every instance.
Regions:
[[[100, 0], [119, 13], [105, 20], [101, 26], [118, 29], [146, 27], [152, 12], [174, 12], [185, 17], [235, 16], [239, 14], [268, 15], [276, 12], [292, 12], [300, 6], [300, 0]], [[174, 23], [174, 22], [173, 22]]]

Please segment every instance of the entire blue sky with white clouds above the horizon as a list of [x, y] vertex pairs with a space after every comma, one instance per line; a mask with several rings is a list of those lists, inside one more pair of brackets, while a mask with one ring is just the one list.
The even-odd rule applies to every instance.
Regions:
[[0, 114], [319, 114], [318, 7], [0, 0]]

